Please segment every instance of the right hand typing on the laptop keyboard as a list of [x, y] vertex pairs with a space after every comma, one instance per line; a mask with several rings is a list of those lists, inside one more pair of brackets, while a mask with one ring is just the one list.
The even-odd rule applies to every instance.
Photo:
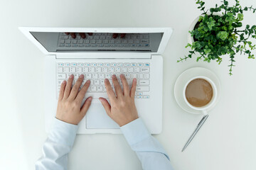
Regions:
[[121, 127], [139, 117], [134, 103], [137, 79], [133, 79], [131, 90], [129, 90], [127, 79], [125, 79], [123, 74], [120, 75], [120, 79], [122, 80], [124, 91], [122, 91], [121, 86], [117, 81], [117, 77], [115, 75], [112, 76], [114, 90], [116, 91], [117, 96], [114, 94], [110, 81], [105, 79], [107, 96], [110, 98], [111, 106], [105, 98], [99, 99], [104, 106], [107, 115]]

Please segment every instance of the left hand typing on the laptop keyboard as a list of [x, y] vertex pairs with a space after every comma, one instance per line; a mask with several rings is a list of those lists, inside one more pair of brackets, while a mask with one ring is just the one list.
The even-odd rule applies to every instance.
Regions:
[[78, 125], [80, 120], [82, 120], [87, 113], [92, 97], [87, 98], [81, 107], [82, 98], [84, 98], [85, 93], [90, 86], [90, 80], [87, 80], [79, 91], [84, 75], [81, 74], [78, 81], [76, 81], [75, 85], [71, 88], [73, 79], [74, 75], [72, 74], [68, 78], [68, 82], [63, 81], [60, 86], [56, 118], [66, 123]]

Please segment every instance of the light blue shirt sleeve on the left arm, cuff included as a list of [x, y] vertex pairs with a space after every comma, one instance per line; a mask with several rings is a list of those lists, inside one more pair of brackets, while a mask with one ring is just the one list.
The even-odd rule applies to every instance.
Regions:
[[43, 156], [36, 162], [36, 170], [68, 169], [68, 153], [73, 147], [78, 125], [55, 118], [54, 125], [43, 144]]

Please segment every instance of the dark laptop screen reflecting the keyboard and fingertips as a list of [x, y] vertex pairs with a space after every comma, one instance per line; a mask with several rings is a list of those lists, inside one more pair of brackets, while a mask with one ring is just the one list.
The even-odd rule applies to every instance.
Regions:
[[157, 52], [164, 34], [30, 33], [48, 52]]

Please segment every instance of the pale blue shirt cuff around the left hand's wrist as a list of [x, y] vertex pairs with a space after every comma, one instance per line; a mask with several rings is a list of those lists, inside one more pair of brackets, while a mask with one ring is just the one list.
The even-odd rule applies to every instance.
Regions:
[[57, 118], [53, 122], [53, 128], [50, 130], [50, 138], [57, 143], [72, 147], [76, 132], [78, 131], [78, 125], [65, 123]]

